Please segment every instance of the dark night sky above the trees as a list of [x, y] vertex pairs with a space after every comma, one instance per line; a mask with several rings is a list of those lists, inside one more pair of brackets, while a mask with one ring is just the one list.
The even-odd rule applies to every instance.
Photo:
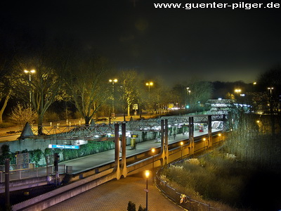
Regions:
[[237, 0], [7, 2], [0, 3], [1, 34], [25, 34], [33, 43], [40, 37], [79, 39], [117, 68], [135, 68], [151, 79], [162, 75], [169, 84], [193, 77], [254, 82], [281, 58], [281, 8], [154, 7], [243, 2]]

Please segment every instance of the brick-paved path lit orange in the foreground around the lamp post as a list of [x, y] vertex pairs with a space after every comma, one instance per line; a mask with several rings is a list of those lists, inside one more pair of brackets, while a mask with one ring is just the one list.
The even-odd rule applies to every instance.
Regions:
[[[109, 181], [62, 203], [48, 207], [45, 211], [126, 211], [129, 200], [136, 204], [136, 210], [138, 210], [139, 205], [145, 207], [146, 204], [144, 188], [146, 188], [146, 180], [142, 175], [136, 174], [124, 179]], [[148, 181], [148, 190], [149, 211], [184, 210], [162, 195], [155, 184], [152, 184], [151, 179]]]

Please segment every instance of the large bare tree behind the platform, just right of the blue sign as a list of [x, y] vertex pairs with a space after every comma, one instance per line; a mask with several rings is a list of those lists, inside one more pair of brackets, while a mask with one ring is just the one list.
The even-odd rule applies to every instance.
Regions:
[[77, 57], [68, 67], [65, 76], [67, 89], [86, 125], [110, 96], [107, 70], [107, 60], [93, 55]]

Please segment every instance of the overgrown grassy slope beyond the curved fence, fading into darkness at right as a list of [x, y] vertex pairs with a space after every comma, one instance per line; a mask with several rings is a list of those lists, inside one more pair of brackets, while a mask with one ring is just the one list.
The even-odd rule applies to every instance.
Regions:
[[280, 193], [271, 191], [273, 186], [281, 188], [280, 174], [260, 171], [234, 155], [215, 152], [184, 160], [165, 168], [162, 178], [181, 193], [221, 210], [281, 208]]

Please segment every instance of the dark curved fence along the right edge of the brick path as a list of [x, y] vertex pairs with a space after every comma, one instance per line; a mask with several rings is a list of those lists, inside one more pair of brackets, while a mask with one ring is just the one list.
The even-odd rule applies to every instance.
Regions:
[[200, 201], [192, 199], [190, 196], [186, 196], [184, 193], [178, 193], [175, 188], [169, 186], [166, 181], [163, 181], [156, 176], [156, 185], [165, 196], [174, 201], [174, 203], [188, 209], [189, 211], [220, 211], [209, 204], [202, 203]]

